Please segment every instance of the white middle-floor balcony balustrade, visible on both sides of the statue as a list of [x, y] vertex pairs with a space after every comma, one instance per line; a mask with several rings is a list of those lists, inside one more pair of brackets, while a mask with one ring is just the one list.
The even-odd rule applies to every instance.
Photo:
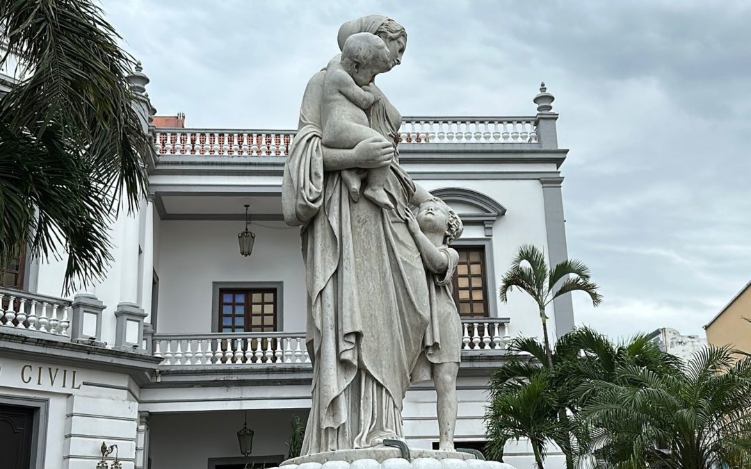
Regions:
[[[462, 350], [505, 350], [507, 318], [462, 320], [462, 326]], [[157, 334], [153, 350], [162, 366], [310, 363], [305, 334], [294, 332]]]

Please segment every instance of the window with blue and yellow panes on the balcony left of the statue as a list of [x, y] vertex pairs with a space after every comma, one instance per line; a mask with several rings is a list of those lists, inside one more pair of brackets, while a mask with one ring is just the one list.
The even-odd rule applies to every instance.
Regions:
[[219, 290], [219, 332], [276, 331], [275, 288]]

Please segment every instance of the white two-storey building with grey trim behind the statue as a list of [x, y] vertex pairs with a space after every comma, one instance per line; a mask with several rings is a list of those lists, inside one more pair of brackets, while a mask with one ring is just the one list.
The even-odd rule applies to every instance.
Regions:
[[[140, 95], [149, 155], [149, 200], [113, 224], [107, 279], [59, 297], [65, 254], [21, 257], [0, 287], [0, 428], [13, 422], [18, 467], [96, 467], [116, 444], [122, 467], [230, 469], [286, 458], [290, 419], [306, 417], [312, 368], [304, 343], [306, 288], [300, 230], [282, 219], [282, 168], [294, 131], [155, 128], [148, 79]], [[498, 301], [496, 283], [519, 245], [566, 259], [552, 95], [530, 116], [406, 117], [400, 161], [465, 224], [454, 279], [463, 321], [457, 446], [484, 443], [490, 374], [505, 342], [539, 335], [523, 294]], [[255, 246], [240, 255], [237, 233]], [[548, 311], [551, 334], [574, 326], [570, 297]], [[438, 441], [436, 395], [414, 386], [404, 404], [413, 447]], [[236, 432], [255, 431], [249, 458]], [[7, 424], [11, 428], [11, 424]], [[10, 431], [6, 431], [11, 434]], [[531, 448], [505, 461], [533, 467]], [[28, 464], [23, 466], [24, 461]], [[563, 459], [551, 449], [550, 467]]]

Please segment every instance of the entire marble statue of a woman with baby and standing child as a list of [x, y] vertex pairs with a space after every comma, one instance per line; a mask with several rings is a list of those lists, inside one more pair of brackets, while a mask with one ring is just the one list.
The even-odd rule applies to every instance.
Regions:
[[430, 379], [441, 450], [413, 456], [480, 463], [453, 451], [461, 324], [448, 244], [462, 224], [400, 166], [401, 116], [373, 81], [400, 65], [406, 30], [371, 15], [344, 23], [337, 40], [342, 54], [306, 86], [282, 182], [285, 221], [301, 227], [313, 363], [303, 456], [282, 465], [398, 458], [382, 443], [403, 440], [406, 391]]

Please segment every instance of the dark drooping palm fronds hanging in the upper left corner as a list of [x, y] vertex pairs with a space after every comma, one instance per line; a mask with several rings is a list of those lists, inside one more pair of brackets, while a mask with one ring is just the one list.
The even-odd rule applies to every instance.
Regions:
[[62, 246], [68, 293], [102, 278], [113, 213], [147, 194], [134, 61], [90, 0], [0, 0], [0, 31], [0, 65], [27, 71], [0, 98], [0, 266]]

